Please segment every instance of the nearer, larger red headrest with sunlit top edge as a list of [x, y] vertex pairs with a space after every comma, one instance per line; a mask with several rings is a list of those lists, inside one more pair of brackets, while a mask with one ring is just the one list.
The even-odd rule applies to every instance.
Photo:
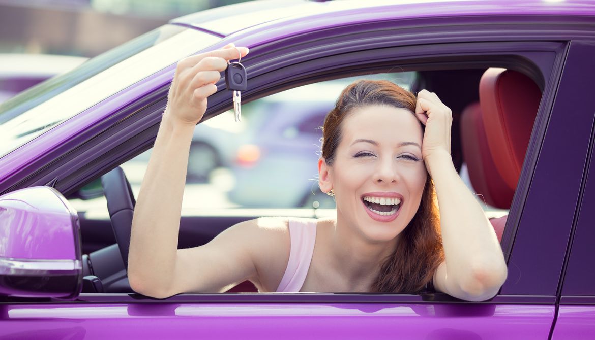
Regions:
[[531, 78], [503, 68], [490, 68], [480, 80], [480, 105], [496, 167], [510, 188], [516, 188], [541, 91]]

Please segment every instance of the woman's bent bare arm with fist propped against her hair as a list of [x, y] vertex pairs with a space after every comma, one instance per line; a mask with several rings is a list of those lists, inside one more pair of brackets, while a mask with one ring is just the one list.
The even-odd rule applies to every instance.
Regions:
[[426, 125], [422, 154], [440, 207], [445, 261], [434, 274], [434, 286], [463, 300], [487, 300], [502, 287], [507, 268], [490, 221], [453, 166], [452, 113], [436, 94], [423, 90], [416, 115]]

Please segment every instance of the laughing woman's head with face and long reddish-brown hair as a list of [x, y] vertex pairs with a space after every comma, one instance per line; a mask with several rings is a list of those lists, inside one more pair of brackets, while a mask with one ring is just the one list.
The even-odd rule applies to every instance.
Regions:
[[380, 271], [372, 291], [418, 293], [444, 258], [415, 103], [392, 82], [358, 81], [324, 121], [320, 187], [336, 196], [337, 226], [356, 227], [337, 234], [375, 244], [371, 268]]

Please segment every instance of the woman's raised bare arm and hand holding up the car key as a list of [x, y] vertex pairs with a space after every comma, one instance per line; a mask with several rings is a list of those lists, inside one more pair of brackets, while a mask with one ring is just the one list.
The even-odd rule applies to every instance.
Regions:
[[[177, 65], [134, 208], [128, 277], [133, 290], [139, 293], [154, 297], [173, 295], [179, 293], [173, 290], [174, 282], [184, 275], [193, 275], [178, 265], [180, 252], [185, 254], [187, 250], [177, 250], [190, 142], [196, 123], [205, 113], [206, 98], [217, 91], [215, 82], [220, 79], [220, 72], [227, 68], [228, 60], [238, 58], [238, 50], [242, 56], [248, 53], [245, 47], [228, 45], [190, 56]], [[206, 261], [195, 262], [198, 265]]]

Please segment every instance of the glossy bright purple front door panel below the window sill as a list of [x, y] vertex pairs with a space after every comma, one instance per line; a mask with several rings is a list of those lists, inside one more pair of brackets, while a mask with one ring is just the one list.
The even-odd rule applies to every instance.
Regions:
[[[35, 338], [547, 339], [553, 306], [70, 304], [0, 306], [0, 336]], [[25, 323], [26, 322], [26, 326]], [[109, 323], [109, 327], [106, 325]]]

